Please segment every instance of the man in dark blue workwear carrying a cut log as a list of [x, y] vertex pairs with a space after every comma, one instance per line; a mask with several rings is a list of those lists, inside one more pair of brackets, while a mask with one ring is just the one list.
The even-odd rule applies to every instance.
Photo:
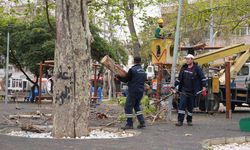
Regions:
[[141, 57], [134, 58], [134, 66], [129, 69], [125, 77], [119, 75], [116, 75], [116, 77], [120, 81], [128, 83], [128, 96], [124, 108], [127, 122], [122, 129], [133, 129], [133, 109], [135, 110], [135, 114], [139, 121], [137, 128], [145, 128], [145, 120], [143, 117], [143, 111], [140, 107], [140, 102], [144, 94], [146, 73], [141, 66]]

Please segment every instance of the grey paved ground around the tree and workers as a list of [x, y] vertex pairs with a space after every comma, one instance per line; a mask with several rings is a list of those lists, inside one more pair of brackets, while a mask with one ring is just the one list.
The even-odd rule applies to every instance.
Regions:
[[[50, 111], [51, 105], [0, 103], [0, 113], [27, 112], [42, 109]], [[199, 150], [205, 139], [217, 137], [249, 136], [250, 132], [239, 130], [239, 120], [250, 116], [250, 108], [233, 113], [232, 119], [226, 119], [224, 113], [209, 115], [194, 113], [193, 126], [176, 127], [176, 113], [172, 122], [156, 123], [147, 126], [136, 137], [112, 140], [67, 140], [67, 139], [29, 139], [0, 135], [0, 150]], [[4, 127], [0, 116], [0, 129]]]

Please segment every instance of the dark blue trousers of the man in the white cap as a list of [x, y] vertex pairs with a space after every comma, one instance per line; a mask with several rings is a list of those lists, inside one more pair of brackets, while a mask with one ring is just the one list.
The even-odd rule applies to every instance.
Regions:
[[187, 122], [192, 122], [193, 107], [194, 107], [195, 96], [188, 94], [180, 95], [180, 104], [178, 109], [178, 121], [183, 122], [187, 110]]

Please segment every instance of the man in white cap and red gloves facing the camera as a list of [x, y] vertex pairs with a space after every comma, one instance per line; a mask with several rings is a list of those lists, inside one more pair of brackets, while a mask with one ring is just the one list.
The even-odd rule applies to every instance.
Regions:
[[178, 80], [175, 86], [180, 92], [180, 103], [178, 108], [178, 122], [176, 126], [182, 126], [187, 109], [187, 125], [192, 126], [193, 105], [195, 97], [198, 93], [206, 95], [207, 79], [204, 76], [202, 69], [194, 62], [194, 56], [188, 54], [186, 57], [186, 64], [180, 70]]

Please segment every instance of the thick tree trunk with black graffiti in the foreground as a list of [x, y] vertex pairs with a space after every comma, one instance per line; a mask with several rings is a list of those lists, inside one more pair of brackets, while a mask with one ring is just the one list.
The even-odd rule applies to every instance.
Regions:
[[87, 0], [56, 1], [54, 137], [88, 135], [90, 44]]

